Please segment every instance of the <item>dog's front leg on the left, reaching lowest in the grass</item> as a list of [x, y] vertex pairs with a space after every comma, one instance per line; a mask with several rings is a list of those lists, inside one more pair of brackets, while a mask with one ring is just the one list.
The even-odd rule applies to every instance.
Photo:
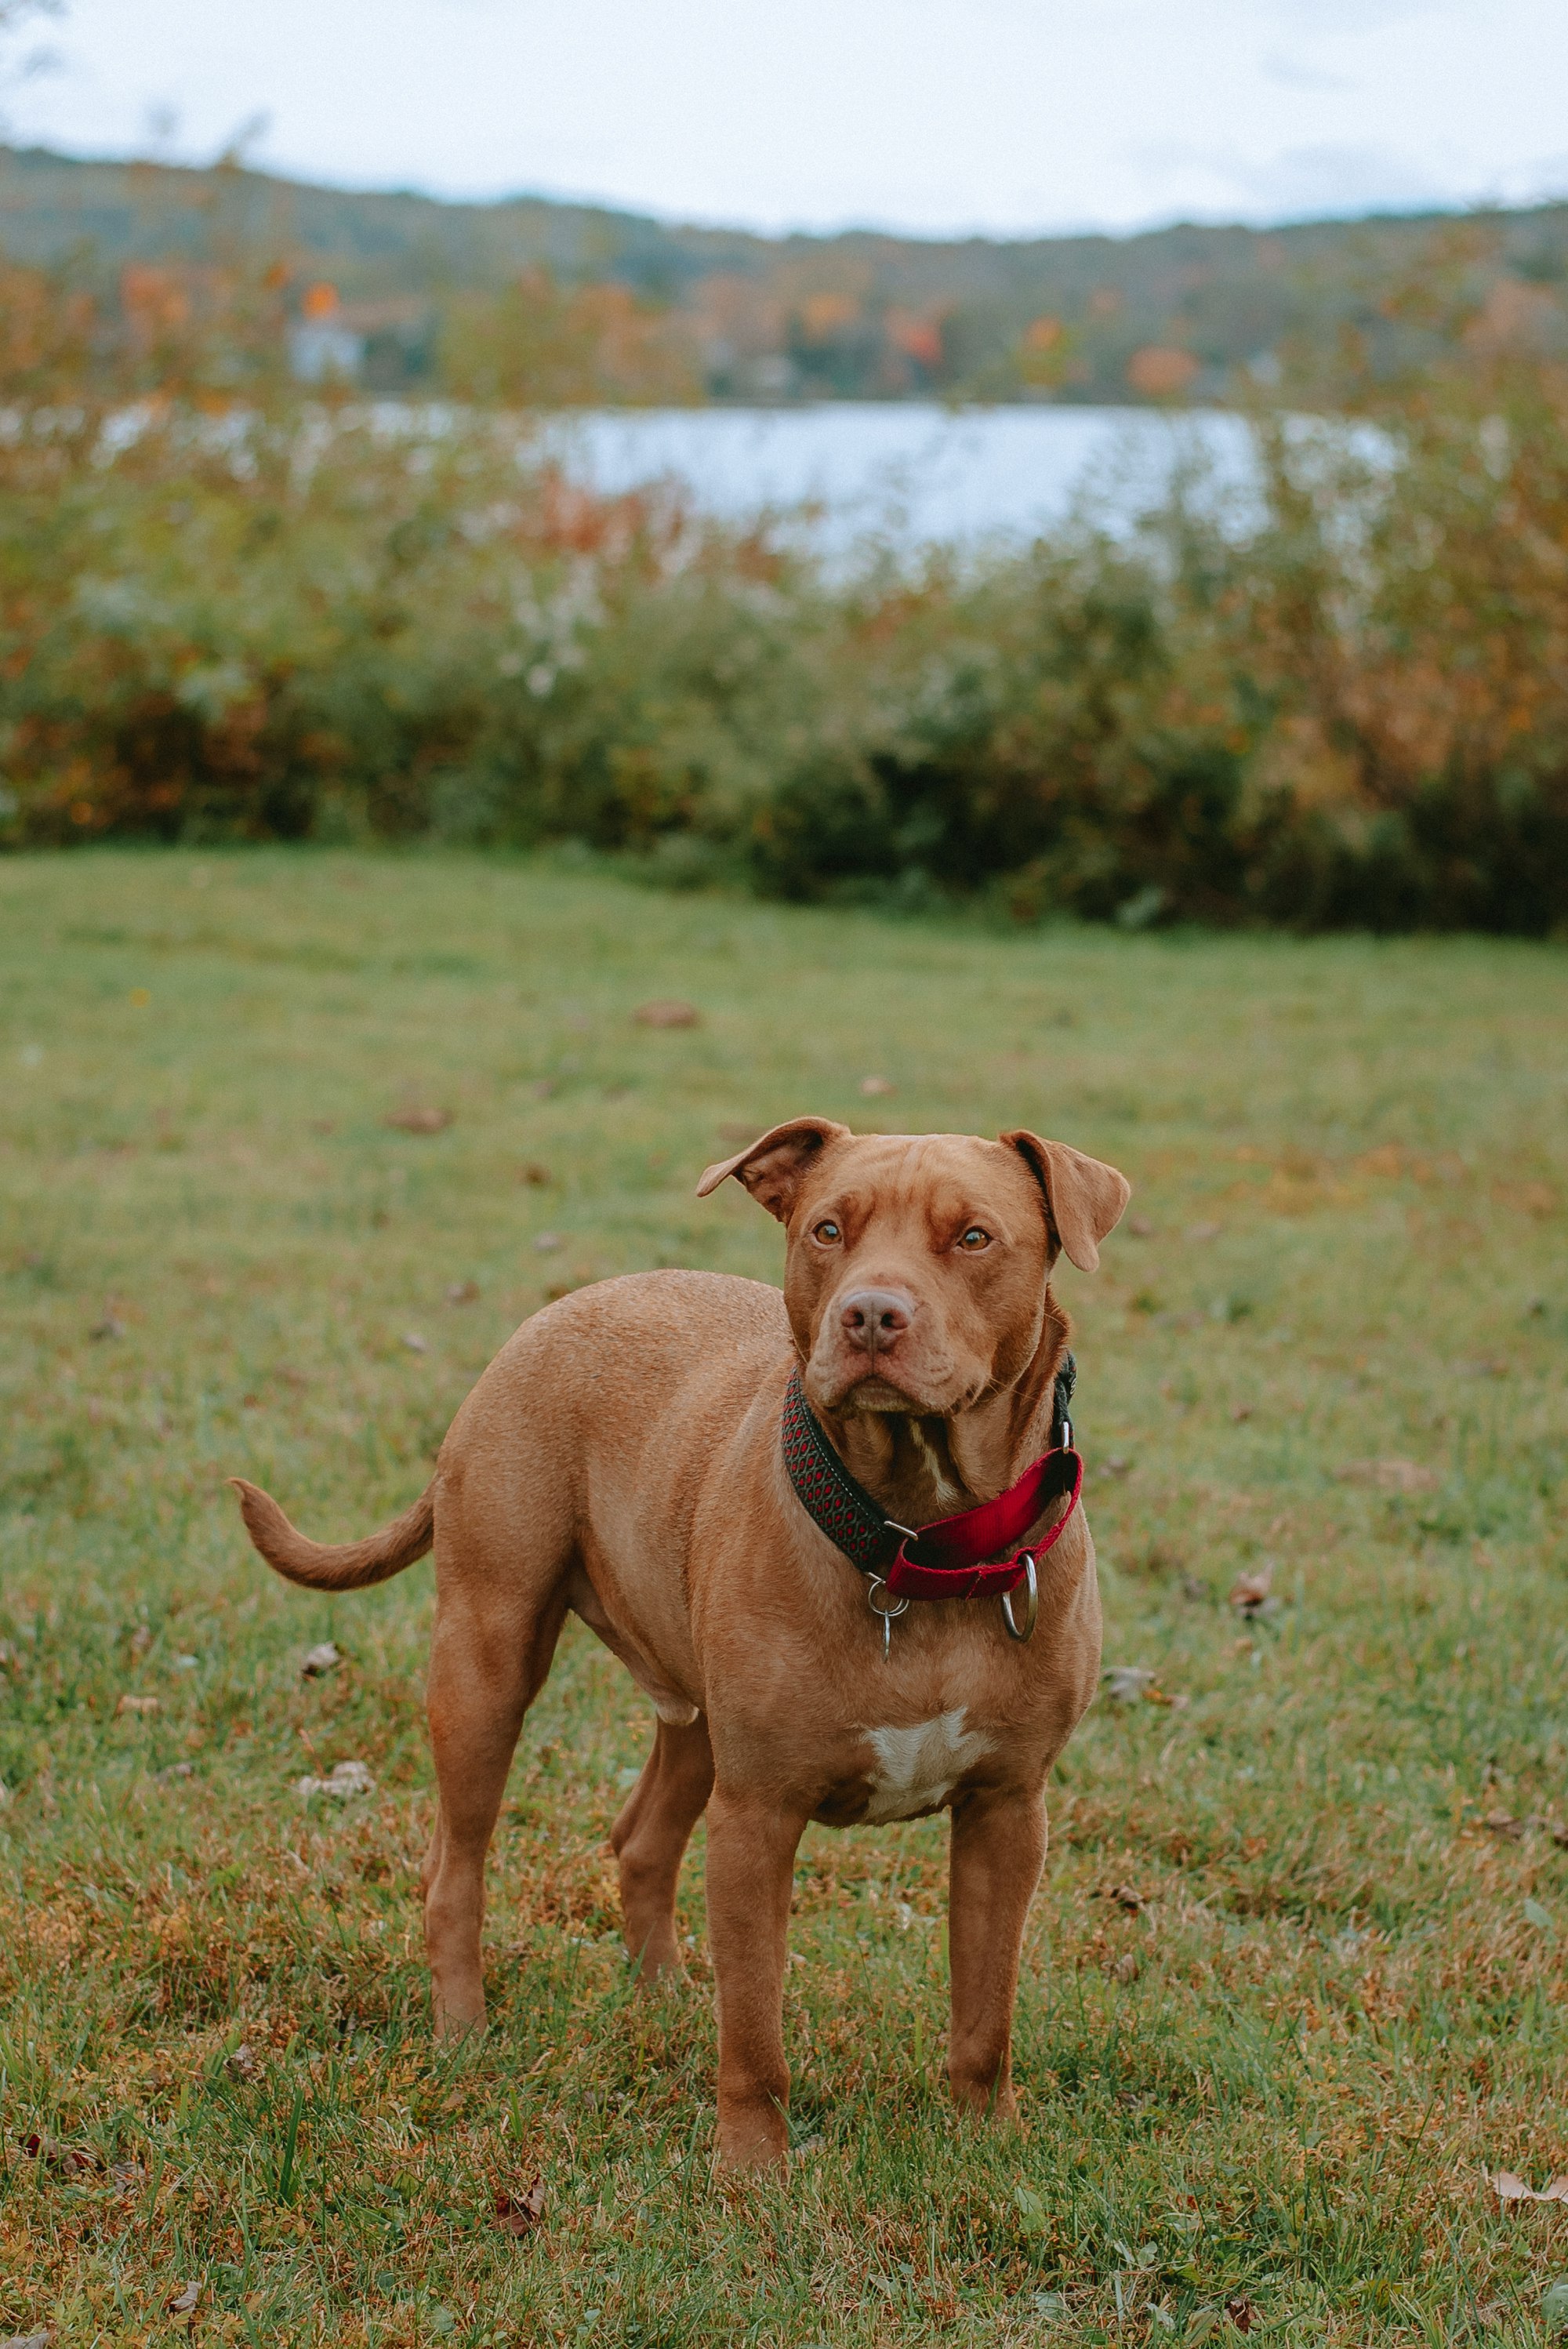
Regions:
[[805, 1818], [714, 1790], [707, 1813], [709, 1943], [718, 1992], [718, 2159], [761, 2168], [789, 2152], [784, 1954]]

